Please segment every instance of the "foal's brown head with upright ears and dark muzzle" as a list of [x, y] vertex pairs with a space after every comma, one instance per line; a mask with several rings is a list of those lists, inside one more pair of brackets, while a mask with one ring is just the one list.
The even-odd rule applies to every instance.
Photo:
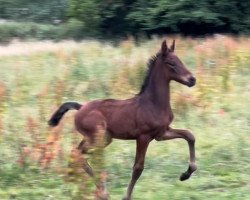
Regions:
[[169, 80], [175, 80], [179, 83], [192, 87], [195, 85], [196, 79], [193, 74], [185, 67], [181, 60], [175, 55], [175, 40], [170, 48], [168, 48], [166, 40], [162, 42], [160, 55], [161, 64]]

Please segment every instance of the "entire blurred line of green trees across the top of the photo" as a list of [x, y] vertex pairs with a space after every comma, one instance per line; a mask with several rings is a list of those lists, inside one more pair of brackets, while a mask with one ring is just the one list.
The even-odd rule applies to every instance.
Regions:
[[[239, 0], [0, 0], [0, 18], [72, 22], [82, 36], [250, 33], [250, 1]], [[79, 28], [80, 27], [80, 28]]]

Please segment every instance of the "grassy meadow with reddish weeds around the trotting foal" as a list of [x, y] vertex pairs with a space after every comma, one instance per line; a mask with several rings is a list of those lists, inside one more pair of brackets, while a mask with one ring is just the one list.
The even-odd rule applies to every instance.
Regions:
[[[180, 182], [188, 145], [154, 141], [134, 199], [250, 199], [250, 38], [174, 38], [176, 54], [196, 75], [197, 85], [171, 83], [173, 127], [195, 134], [198, 171]], [[81, 140], [73, 126], [75, 111], [57, 128], [49, 128], [47, 120], [65, 101], [135, 95], [161, 41], [0, 46], [0, 199], [93, 199], [91, 180], [72, 164]], [[135, 142], [115, 140], [103, 154], [110, 199], [121, 199]]]

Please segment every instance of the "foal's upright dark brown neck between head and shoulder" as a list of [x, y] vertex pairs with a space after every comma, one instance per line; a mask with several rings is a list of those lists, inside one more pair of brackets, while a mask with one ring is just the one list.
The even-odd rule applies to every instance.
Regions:
[[156, 108], [161, 111], [171, 111], [170, 106], [170, 81], [166, 80], [161, 71], [153, 72], [149, 84], [143, 93], [142, 98], [146, 98]]

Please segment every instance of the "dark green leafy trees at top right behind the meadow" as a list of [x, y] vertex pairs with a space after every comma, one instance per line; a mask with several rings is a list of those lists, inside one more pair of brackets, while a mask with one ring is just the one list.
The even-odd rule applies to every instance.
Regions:
[[111, 35], [249, 33], [250, 28], [246, 1], [71, 0], [69, 5], [70, 16]]

